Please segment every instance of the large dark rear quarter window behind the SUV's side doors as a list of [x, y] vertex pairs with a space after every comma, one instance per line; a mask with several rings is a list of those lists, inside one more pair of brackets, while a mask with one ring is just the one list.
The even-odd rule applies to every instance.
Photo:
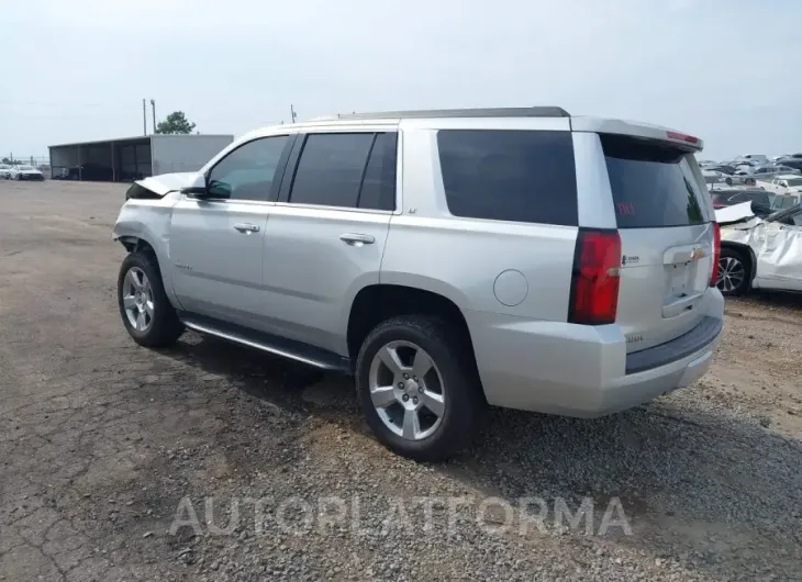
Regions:
[[577, 224], [569, 132], [444, 130], [437, 146], [452, 214]]

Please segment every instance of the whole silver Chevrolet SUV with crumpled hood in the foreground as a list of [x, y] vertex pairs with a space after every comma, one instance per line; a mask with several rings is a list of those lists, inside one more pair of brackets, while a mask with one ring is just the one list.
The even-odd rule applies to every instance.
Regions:
[[353, 373], [376, 436], [442, 459], [488, 404], [592, 417], [687, 387], [722, 333], [698, 138], [559, 108], [259, 130], [132, 186], [120, 313]]

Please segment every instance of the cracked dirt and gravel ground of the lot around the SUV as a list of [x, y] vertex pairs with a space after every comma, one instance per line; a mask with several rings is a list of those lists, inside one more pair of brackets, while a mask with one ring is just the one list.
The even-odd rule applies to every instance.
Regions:
[[494, 411], [416, 465], [347, 379], [192, 333], [135, 346], [123, 192], [0, 181], [0, 579], [802, 579], [801, 298], [729, 302], [690, 389], [597, 421]]

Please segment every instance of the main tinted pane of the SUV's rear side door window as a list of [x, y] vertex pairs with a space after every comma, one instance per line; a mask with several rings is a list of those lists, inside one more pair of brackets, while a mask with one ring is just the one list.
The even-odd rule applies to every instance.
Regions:
[[356, 208], [372, 142], [372, 133], [309, 135], [290, 202]]

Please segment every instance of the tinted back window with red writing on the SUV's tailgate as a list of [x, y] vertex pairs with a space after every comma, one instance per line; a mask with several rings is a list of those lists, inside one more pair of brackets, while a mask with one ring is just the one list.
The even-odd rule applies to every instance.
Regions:
[[600, 137], [619, 228], [705, 222], [692, 154], [634, 137]]

